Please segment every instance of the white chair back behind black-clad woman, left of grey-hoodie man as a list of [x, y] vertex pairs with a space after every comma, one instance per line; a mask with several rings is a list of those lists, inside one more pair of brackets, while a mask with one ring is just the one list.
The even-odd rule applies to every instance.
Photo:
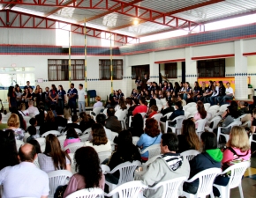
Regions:
[[141, 165], [139, 161], [133, 161], [131, 162], [124, 162], [120, 165], [117, 165], [111, 172], [117, 172], [119, 171], [119, 180], [117, 186], [124, 184], [128, 181], [133, 180], [133, 174], [136, 170], [136, 168]]

